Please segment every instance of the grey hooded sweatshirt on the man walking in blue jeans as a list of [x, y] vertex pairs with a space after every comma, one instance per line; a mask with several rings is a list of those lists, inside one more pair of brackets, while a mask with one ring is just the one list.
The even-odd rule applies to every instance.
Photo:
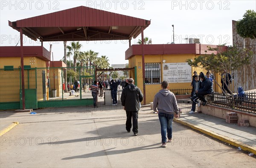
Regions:
[[175, 95], [168, 89], [160, 90], [154, 97], [153, 110], [159, 113], [178, 114], [178, 104]]

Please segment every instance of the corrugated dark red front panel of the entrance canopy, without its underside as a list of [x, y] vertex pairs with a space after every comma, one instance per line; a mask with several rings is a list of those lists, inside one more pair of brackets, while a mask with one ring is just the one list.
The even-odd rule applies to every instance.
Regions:
[[145, 20], [85, 6], [17, 20], [17, 27], [63, 26], [145, 26]]

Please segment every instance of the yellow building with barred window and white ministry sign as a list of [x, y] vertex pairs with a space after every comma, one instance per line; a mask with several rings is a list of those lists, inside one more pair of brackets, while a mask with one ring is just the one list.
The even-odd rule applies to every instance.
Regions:
[[[205, 54], [207, 46], [215, 48], [215, 45], [204, 44], [148, 44], [144, 45], [145, 63], [145, 95], [146, 104], [154, 99], [154, 95], [161, 89], [161, 82], [169, 82], [169, 89], [190, 89], [192, 88], [192, 75], [194, 71], [199, 73], [203, 68], [194, 68], [186, 63], [187, 59]], [[207, 54], [215, 51], [208, 51]], [[129, 68], [136, 67], [130, 71], [130, 76], [135, 79], [137, 86], [143, 91], [143, 59], [142, 45], [132, 45], [125, 51], [125, 59], [129, 60]], [[215, 75], [216, 81], [220, 83], [220, 77]], [[220, 91], [214, 85], [214, 91]], [[185, 94], [185, 93], [180, 93]], [[190, 94], [190, 93], [188, 93]]]

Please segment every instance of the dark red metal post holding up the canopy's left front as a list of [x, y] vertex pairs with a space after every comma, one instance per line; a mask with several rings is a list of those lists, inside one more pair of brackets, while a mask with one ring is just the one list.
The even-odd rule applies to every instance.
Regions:
[[23, 29], [20, 28], [20, 63], [21, 63], [21, 85], [22, 85], [22, 109], [25, 110], [25, 81], [23, 60]]

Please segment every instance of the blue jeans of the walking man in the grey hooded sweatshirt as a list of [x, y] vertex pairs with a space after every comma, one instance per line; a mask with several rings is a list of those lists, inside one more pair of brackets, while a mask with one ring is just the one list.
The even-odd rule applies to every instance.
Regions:
[[166, 142], [166, 131], [168, 139], [172, 138], [172, 120], [174, 114], [158, 113], [160, 125], [161, 125], [161, 136], [162, 143]]

